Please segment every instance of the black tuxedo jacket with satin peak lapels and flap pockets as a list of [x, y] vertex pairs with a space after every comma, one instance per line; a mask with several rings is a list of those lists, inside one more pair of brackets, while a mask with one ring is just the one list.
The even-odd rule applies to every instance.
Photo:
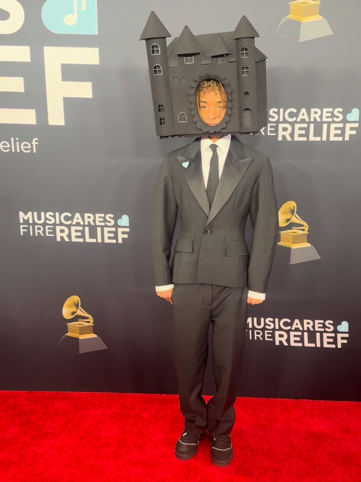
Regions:
[[[151, 207], [155, 285], [206, 283], [265, 293], [278, 236], [267, 156], [232, 136], [212, 206], [204, 185], [200, 139], [167, 154]], [[177, 214], [181, 233], [169, 258]], [[250, 251], [245, 223], [250, 216]]]

